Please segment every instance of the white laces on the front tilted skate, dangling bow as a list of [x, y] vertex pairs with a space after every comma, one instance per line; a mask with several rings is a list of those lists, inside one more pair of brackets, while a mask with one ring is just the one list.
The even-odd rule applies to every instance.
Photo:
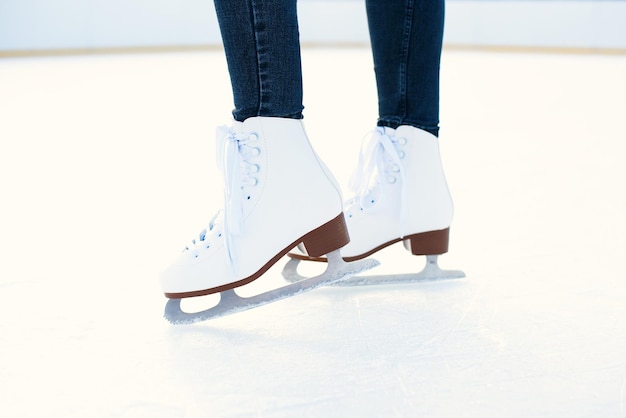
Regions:
[[225, 206], [223, 210], [218, 211], [213, 216], [209, 225], [200, 232], [198, 238], [192, 240], [191, 245], [185, 248], [191, 250], [199, 245], [207, 245], [205, 241], [214, 235], [210, 232], [214, 231], [216, 225], [223, 223], [223, 228], [220, 228], [223, 229], [223, 233], [218, 232], [216, 236], [225, 240], [229, 264], [235, 275], [236, 263], [234, 260], [237, 258], [237, 254], [233, 240], [244, 229], [243, 202], [249, 198], [245, 194], [245, 189], [258, 183], [253, 174], [259, 171], [259, 166], [249, 161], [249, 158], [256, 157], [260, 153], [259, 148], [250, 144], [257, 139], [258, 136], [254, 133], [237, 133], [227, 126], [217, 128], [217, 166], [224, 178]]

